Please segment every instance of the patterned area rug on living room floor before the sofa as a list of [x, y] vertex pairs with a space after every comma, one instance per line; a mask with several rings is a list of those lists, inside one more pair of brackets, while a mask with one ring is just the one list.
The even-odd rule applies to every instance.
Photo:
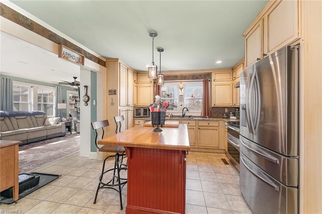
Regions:
[[79, 142], [80, 135], [74, 133], [19, 146], [19, 174], [78, 152]]

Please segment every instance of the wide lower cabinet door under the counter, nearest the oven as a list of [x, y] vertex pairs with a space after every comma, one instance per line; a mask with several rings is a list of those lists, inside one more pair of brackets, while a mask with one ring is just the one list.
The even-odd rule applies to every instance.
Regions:
[[198, 127], [198, 146], [199, 147], [219, 147], [219, 127]]

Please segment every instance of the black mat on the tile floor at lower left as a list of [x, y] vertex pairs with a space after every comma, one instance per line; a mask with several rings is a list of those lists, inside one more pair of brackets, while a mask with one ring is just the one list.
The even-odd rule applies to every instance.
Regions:
[[[30, 193], [36, 191], [37, 189], [43, 187], [44, 185], [50, 183], [51, 181], [57, 179], [60, 177], [60, 175], [55, 174], [45, 174], [45, 173], [39, 173], [39, 172], [31, 172], [30, 174], [39, 175], [39, 183], [36, 186], [33, 186], [31, 188], [28, 188], [22, 192], [19, 193], [19, 199], [25, 197], [26, 195], [29, 195]], [[13, 203], [15, 202], [13, 197], [4, 197], [3, 195], [0, 195], [0, 203]]]

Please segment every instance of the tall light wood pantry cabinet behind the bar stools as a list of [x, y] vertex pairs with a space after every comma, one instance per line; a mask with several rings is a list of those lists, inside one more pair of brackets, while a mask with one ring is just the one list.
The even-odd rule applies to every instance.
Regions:
[[[121, 131], [133, 125], [134, 71], [119, 59], [107, 59], [107, 119], [110, 126], [107, 135], [115, 134], [115, 116], [123, 115]], [[116, 91], [116, 92], [115, 92]]]

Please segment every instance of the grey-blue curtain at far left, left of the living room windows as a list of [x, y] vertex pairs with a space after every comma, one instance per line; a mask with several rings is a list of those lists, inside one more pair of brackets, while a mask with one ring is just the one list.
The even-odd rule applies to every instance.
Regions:
[[14, 110], [14, 89], [13, 81], [11, 78], [1, 78], [0, 86], [1, 95], [1, 110], [2, 111], [13, 111]]

